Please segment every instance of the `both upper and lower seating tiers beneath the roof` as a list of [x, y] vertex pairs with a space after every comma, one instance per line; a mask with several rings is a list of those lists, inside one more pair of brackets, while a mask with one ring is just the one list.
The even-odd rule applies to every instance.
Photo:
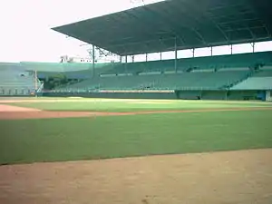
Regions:
[[[179, 59], [177, 72], [174, 60], [114, 63], [100, 77], [96, 75], [56, 90], [226, 90], [252, 74], [267, 76], [269, 64], [272, 64], [272, 52]], [[258, 69], [266, 69], [266, 73]]]

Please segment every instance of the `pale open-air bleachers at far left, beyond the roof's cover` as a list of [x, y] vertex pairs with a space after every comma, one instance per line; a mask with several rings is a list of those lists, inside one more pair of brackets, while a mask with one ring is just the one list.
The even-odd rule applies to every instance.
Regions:
[[[112, 69], [112, 63], [96, 63], [94, 68], [92, 63], [0, 63], [0, 95], [33, 94], [34, 71], [37, 78], [44, 81], [37, 80], [37, 86], [45, 84], [47, 89], [54, 85], [55, 79], [68, 84], [90, 79]], [[42, 87], [38, 91], [42, 91]]]

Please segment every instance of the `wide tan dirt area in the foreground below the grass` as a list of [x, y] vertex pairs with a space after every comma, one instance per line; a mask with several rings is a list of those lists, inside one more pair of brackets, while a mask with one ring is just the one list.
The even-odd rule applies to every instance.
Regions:
[[5, 204], [270, 204], [272, 150], [0, 166]]

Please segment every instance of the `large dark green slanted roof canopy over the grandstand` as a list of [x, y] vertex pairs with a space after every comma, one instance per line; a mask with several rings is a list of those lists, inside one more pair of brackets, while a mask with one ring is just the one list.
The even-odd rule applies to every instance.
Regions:
[[271, 0], [166, 0], [54, 27], [131, 55], [272, 40]]

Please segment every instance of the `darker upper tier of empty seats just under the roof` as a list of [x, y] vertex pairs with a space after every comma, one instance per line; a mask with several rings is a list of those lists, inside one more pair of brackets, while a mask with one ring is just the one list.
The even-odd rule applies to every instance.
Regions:
[[[242, 53], [229, 54], [208, 57], [195, 57], [179, 59], [177, 69], [180, 72], [187, 71], [189, 68], [194, 69], [224, 69], [224, 68], [247, 68], [257, 63], [272, 64], [272, 52], [264, 53]], [[144, 73], [144, 72], [168, 72], [175, 70], [174, 60], [153, 61], [143, 63], [115, 63], [112, 69], [105, 72], [108, 74], [117, 73]]]

